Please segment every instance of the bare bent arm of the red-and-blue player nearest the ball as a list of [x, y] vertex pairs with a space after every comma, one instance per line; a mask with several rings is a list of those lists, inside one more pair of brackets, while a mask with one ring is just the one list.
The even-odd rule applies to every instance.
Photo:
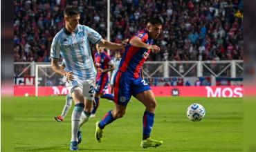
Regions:
[[149, 46], [148, 44], [145, 44], [140, 38], [133, 37], [130, 41], [131, 46], [135, 46], [138, 48], [147, 48], [149, 50], [152, 50], [154, 53], [158, 53], [160, 48], [156, 45]]

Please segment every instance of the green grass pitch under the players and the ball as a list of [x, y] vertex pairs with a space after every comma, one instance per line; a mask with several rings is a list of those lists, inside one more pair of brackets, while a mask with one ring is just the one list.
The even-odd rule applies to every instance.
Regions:
[[[144, 106], [136, 99], [125, 117], [106, 126], [104, 142], [95, 140], [95, 122], [113, 103], [101, 99], [96, 117], [82, 127], [80, 151], [242, 151], [243, 100], [240, 98], [157, 97], [152, 137], [163, 140], [156, 149], [141, 149]], [[69, 151], [71, 111], [64, 122], [55, 122], [64, 97], [15, 97], [15, 151]], [[186, 117], [193, 102], [205, 107], [201, 122]]]

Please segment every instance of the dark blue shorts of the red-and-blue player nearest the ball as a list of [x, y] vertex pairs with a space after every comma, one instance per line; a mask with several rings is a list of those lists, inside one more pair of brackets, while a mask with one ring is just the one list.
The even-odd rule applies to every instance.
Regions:
[[143, 91], [151, 90], [145, 79], [134, 78], [129, 73], [122, 73], [118, 70], [114, 79], [114, 99], [116, 104], [127, 106], [131, 95], [135, 96]]

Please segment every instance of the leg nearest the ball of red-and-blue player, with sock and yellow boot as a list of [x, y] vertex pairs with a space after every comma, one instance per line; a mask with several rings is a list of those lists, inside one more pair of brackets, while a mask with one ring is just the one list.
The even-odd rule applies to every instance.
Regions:
[[143, 147], [143, 149], [148, 147], [161, 146], [163, 141], [153, 140], [150, 137], [150, 133], [154, 124], [154, 113], [156, 109], [156, 99], [154, 97], [154, 93], [151, 90], [143, 91], [142, 93], [138, 93], [136, 98], [146, 107], [145, 113], [143, 115], [143, 141], [140, 145]]

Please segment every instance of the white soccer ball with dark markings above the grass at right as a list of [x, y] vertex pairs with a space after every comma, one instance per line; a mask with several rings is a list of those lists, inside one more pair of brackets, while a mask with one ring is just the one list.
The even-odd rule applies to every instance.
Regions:
[[193, 122], [199, 122], [205, 116], [205, 109], [201, 104], [191, 104], [188, 106], [187, 116]]

